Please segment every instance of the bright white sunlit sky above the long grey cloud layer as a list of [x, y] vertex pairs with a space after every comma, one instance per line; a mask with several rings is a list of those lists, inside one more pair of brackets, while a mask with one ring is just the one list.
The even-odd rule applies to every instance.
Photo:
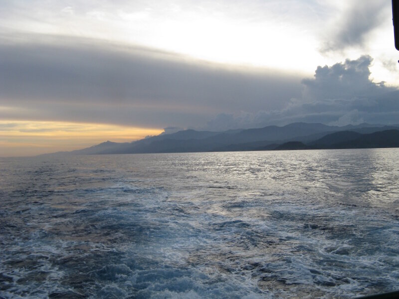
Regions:
[[[392, 59], [396, 51], [392, 47], [393, 29], [388, 6], [384, 10], [388, 14], [384, 23], [386, 34], [372, 34], [363, 49], [324, 54], [319, 51], [321, 40], [328, 41], [337, 33], [335, 24], [349, 9], [347, 6], [350, 5], [340, 1], [322, 4], [182, 0], [121, 2], [118, 5], [106, 1], [97, 5], [55, 2], [36, 8], [34, 14], [40, 18], [19, 15], [15, 20], [7, 17], [3, 24], [18, 31], [98, 38], [220, 63], [278, 68], [309, 75], [317, 65], [356, 59], [365, 54], [365, 49], [374, 52], [373, 57], [377, 59], [382, 53], [382, 44], [386, 58]], [[384, 71], [380, 65], [380, 61], [376, 63], [374, 76], [382, 81]], [[389, 78], [384, 81], [396, 82]]]

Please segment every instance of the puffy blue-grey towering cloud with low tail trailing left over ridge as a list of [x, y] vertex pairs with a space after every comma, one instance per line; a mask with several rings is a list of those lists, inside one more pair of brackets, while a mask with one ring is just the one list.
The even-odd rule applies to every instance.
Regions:
[[284, 109], [233, 116], [220, 114], [207, 128], [251, 128], [292, 122], [348, 124], [398, 124], [399, 91], [370, 79], [370, 56], [317, 67], [312, 79], [302, 80], [301, 98]]

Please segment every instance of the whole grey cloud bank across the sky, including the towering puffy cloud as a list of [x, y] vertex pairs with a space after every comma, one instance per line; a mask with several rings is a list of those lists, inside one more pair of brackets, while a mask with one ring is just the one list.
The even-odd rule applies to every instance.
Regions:
[[362, 56], [319, 66], [301, 81], [93, 40], [3, 38], [0, 119], [207, 130], [399, 123], [399, 92], [370, 79], [371, 63]]

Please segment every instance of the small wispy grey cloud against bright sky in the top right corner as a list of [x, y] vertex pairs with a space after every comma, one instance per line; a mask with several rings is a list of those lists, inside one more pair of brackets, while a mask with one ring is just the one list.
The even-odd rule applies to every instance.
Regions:
[[390, 1], [351, 1], [350, 9], [334, 23], [322, 45], [321, 51], [344, 50], [347, 47], [362, 46], [367, 34], [385, 21], [383, 13]]

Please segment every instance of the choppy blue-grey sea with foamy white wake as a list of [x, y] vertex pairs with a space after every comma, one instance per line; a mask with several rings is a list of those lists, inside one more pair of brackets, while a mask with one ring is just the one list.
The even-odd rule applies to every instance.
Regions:
[[0, 159], [1, 298], [399, 290], [399, 149]]

